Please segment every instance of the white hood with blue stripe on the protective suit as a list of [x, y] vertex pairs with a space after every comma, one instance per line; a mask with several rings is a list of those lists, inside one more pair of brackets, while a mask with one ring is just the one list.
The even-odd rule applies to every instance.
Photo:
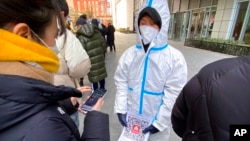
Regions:
[[[158, 14], [155, 12], [150, 13], [149, 8], [153, 8]], [[144, 10], [147, 8], [147, 10]], [[153, 19], [156, 24], [160, 25], [160, 31], [157, 35], [156, 38], [154, 38], [150, 44], [151, 46], [154, 47], [162, 47], [167, 44], [168, 41], [168, 28], [169, 28], [169, 21], [170, 21], [170, 12], [169, 12], [169, 7], [168, 3], [166, 0], [144, 0], [142, 3], [141, 8], [139, 9], [136, 18], [135, 18], [135, 29], [137, 31], [137, 45], [142, 46], [142, 37], [139, 32], [139, 18], [140, 16], [143, 15], [144, 12], [149, 12], [147, 13], [151, 18]], [[143, 12], [143, 13], [142, 13]], [[154, 16], [155, 15], [155, 16]], [[152, 17], [154, 16], [154, 17]], [[160, 18], [160, 19], [157, 19]]]

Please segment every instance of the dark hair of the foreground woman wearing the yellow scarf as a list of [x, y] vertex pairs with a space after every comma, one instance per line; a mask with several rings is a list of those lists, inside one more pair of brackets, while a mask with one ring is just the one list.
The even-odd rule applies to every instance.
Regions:
[[0, 0], [0, 28], [8, 24], [26, 23], [35, 33], [43, 36], [45, 28], [57, 16], [61, 33], [65, 24], [55, 0]]

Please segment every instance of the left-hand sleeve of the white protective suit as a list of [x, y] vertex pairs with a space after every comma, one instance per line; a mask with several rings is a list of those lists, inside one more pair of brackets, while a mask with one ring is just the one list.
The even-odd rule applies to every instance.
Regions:
[[128, 92], [128, 66], [126, 65], [126, 53], [124, 53], [116, 68], [114, 80], [116, 85], [115, 113], [127, 113], [127, 92]]

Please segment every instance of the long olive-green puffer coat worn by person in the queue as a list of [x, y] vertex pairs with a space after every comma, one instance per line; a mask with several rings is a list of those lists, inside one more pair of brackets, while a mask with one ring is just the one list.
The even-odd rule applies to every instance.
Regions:
[[107, 77], [104, 53], [106, 52], [106, 42], [93, 24], [83, 25], [77, 32], [76, 37], [87, 51], [91, 68], [88, 73], [90, 82], [99, 82]]

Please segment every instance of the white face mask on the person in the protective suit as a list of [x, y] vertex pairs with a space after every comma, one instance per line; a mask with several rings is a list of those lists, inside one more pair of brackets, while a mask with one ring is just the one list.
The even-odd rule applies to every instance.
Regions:
[[147, 25], [141, 25], [139, 26], [141, 37], [143, 43], [149, 44], [159, 33], [159, 31], [156, 28], [153, 28], [152, 26]]

